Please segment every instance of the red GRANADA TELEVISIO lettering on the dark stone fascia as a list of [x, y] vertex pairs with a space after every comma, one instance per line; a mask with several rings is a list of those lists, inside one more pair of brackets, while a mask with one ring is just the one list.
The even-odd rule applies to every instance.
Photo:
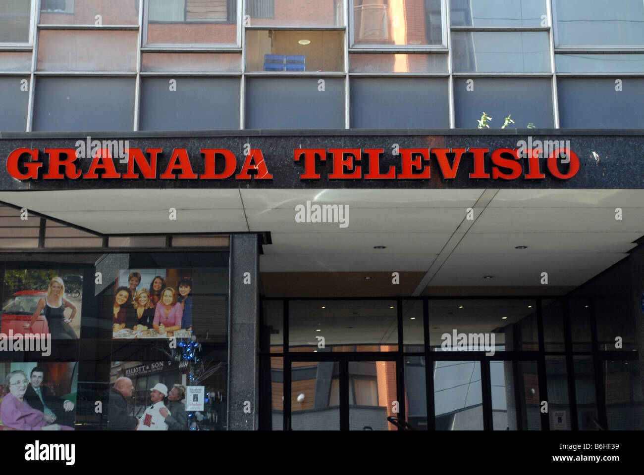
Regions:
[[[161, 148], [128, 148], [125, 160], [113, 158], [109, 149], [96, 149], [89, 167], [81, 167], [76, 149], [19, 148], [12, 151], [6, 169], [16, 180], [64, 179], [148, 179], [148, 180], [272, 180], [269, 163], [261, 149], [249, 149], [238, 158], [227, 149], [200, 149], [199, 156], [189, 156], [187, 149], [173, 148], [164, 167]], [[437, 165], [442, 178], [456, 178], [459, 167], [473, 170], [469, 178], [489, 180], [540, 180], [546, 173], [559, 180], [569, 180], [579, 171], [580, 160], [569, 148], [547, 151], [526, 147], [498, 148], [399, 148], [393, 154], [395, 165], [381, 166], [384, 149], [377, 148], [298, 148], [293, 160], [303, 168], [299, 178], [318, 180], [316, 163], [330, 162], [325, 168], [328, 180], [418, 180], [430, 178], [430, 163]], [[391, 153], [388, 151], [388, 153]], [[489, 157], [489, 158], [488, 158]], [[192, 160], [191, 160], [192, 158]], [[540, 160], [544, 158], [544, 160]], [[195, 161], [196, 160], [196, 161]], [[165, 160], [163, 160], [165, 162]], [[196, 173], [195, 163], [202, 172]], [[469, 162], [464, 165], [465, 162]], [[127, 165], [125, 165], [127, 163]], [[243, 163], [238, 171], [238, 163]], [[486, 164], [487, 163], [487, 164]]]

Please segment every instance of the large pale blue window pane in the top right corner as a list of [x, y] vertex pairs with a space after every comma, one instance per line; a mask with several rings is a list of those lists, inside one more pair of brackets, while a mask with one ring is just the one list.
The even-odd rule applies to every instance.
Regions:
[[644, 46], [644, 3], [553, 1], [556, 46]]

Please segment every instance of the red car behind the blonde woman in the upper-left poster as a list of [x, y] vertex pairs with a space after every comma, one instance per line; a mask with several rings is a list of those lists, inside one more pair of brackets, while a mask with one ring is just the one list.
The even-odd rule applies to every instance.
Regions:
[[25, 330], [23, 325], [29, 323], [33, 312], [38, 307], [38, 301], [47, 295], [46, 290], [21, 290], [14, 293], [2, 306], [2, 320], [0, 321], [0, 333], [9, 335], [9, 330], [14, 335], [27, 333], [49, 333], [49, 325], [44, 317], [44, 309], [30, 330]]

